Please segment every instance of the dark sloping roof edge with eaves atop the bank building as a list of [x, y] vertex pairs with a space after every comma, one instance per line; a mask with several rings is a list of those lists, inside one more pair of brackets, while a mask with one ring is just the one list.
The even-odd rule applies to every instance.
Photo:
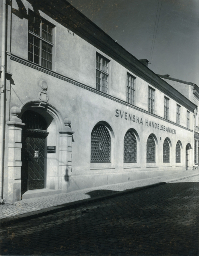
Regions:
[[174, 89], [174, 87], [166, 83], [166, 81], [162, 80], [152, 70], [142, 64], [136, 57], [115, 42], [107, 33], [101, 30], [66, 0], [29, 0], [29, 2], [37, 4], [42, 12], [49, 15], [56, 22], [59, 22], [62, 26], [65, 26], [86, 41], [89, 41], [105, 54], [116, 59], [119, 63], [127, 66], [135, 75], [141, 77], [170, 98], [175, 99], [179, 104], [185, 106], [185, 108], [190, 111], [196, 108], [193, 102], [188, 100], [179, 93], [179, 91]]

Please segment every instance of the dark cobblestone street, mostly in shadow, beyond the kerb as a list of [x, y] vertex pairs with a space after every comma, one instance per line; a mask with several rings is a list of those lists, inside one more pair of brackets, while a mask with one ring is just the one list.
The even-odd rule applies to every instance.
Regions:
[[198, 255], [199, 176], [0, 230], [1, 255]]

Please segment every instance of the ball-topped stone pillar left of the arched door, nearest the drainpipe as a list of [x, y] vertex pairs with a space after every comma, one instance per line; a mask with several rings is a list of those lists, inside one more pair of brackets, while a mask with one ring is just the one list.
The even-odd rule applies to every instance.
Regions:
[[8, 125], [8, 201], [21, 200], [21, 130], [25, 125], [18, 118], [21, 110], [11, 108], [12, 118]]

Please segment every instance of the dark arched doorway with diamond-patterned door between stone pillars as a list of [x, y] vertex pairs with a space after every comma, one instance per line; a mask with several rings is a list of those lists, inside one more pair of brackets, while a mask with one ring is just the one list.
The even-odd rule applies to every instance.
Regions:
[[21, 150], [21, 194], [27, 190], [43, 189], [46, 185], [47, 122], [37, 112], [23, 113]]

